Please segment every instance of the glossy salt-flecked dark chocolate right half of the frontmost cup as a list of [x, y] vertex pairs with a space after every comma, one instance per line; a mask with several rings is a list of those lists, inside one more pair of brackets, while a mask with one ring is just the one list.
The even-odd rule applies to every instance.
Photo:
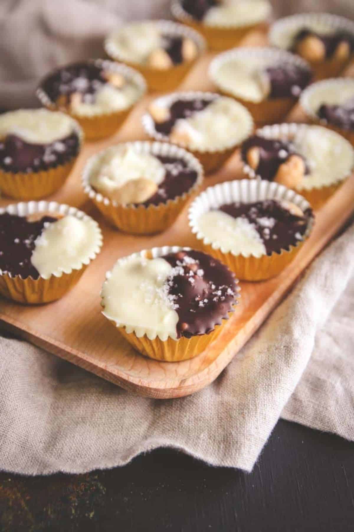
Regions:
[[168, 292], [176, 296], [174, 303], [178, 305], [178, 338], [208, 334], [228, 318], [236, 303], [234, 273], [201, 251], [169, 253], [162, 258], [173, 268], [183, 268], [183, 274], [181, 270], [172, 277]]

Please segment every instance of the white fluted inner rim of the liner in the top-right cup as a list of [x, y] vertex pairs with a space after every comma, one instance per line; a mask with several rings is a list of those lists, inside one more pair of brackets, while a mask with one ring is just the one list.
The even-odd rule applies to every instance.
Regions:
[[269, 42], [272, 46], [288, 49], [292, 46], [292, 36], [304, 27], [314, 29], [320, 27], [327, 31], [341, 30], [354, 36], [354, 22], [343, 16], [330, 13], [301, 13], [274, 22], [269, 32]]

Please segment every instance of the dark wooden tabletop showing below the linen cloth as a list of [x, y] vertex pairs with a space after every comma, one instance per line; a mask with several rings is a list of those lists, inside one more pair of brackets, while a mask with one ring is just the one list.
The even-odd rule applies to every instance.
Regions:
[[85, 475], [0, 473], [1, 532], [353, 532], [354, 443], [279, 421], [252, 473], [173, 450]]

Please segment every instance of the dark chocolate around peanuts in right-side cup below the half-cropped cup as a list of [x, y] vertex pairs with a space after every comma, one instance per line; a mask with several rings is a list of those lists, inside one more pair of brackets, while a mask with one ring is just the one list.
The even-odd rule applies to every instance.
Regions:
[[[309, 173], [309, 168], [305, 157], [297, 153], [290, 142], [284, 142], [282, 140], [273, 138], [265, 138], [258, 135], [249, 137], [241, 146], [241, 157], [245, 163], [248, 164], [248, 150], [255, 146], [260, 148], [260, 162], [258, 163], [258, 167], [255, 169], [255, 172], [257, 176], [260, 176], [262, 179], [273, 181], [277, 175], [280, 165], [286, 162], [290, 155], [298, 155], [301, 157], [301, 159], [303, 159], [305, 162], [305, 174]], [[281, 156], [283, 155], [281, 152], [285, 152], [284, 156]]]

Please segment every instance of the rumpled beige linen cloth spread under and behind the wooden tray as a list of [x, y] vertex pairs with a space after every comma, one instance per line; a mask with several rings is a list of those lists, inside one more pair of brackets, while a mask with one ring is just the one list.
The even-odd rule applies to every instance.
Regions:
[[[348, 2], [354, 8], [351, 0], [335, 6]], [[0, 107], [33, 105], [38, 77], [99, 55], [102, 37], [119, 20], [167, 16], [167, 4], [2, 0]], [[185, 398], [136, 397], [0, 337], [0, 469], [84, 472], [171, 446], [249, 471], [280, 416], [354, 439], [353, 258], [354, 226], [313, 263], [220, 377]]]

